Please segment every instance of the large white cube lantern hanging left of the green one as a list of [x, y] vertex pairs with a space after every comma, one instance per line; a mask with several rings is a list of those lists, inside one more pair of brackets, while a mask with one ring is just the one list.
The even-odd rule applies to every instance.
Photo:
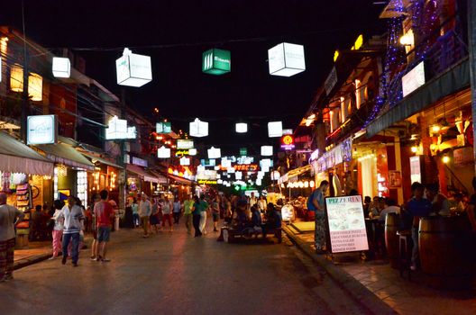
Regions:
[[152, 80], [151, 57], [133, 54], [127, 48], [123, 57], [115, 60], [115, 69], [118, 85], [139, 87]]

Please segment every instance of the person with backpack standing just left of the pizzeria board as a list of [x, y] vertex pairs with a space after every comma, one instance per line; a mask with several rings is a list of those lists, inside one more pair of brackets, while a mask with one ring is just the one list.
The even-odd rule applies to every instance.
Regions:
[[314, 220], [316, 229], [314, 241], [316, 244], [316, 253], [325, 253], [325, 193], [329, 188], [329, 182], [322, 181], [316, 190], [307, 198], [307, 210], [315, 211]]

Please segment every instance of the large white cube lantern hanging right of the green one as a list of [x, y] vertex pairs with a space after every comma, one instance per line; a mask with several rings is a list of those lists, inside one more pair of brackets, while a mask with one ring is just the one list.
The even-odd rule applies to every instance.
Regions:
[[304, 46], [281, 42], [268, 49], [271, 76], [294, 76], [306, 70]]

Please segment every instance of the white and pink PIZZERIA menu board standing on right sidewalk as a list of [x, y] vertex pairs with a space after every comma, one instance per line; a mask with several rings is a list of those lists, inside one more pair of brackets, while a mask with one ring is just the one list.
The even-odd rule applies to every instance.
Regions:
[[362, 196], [328, 197], [325, 206], [332, 252], [368, 250]]

